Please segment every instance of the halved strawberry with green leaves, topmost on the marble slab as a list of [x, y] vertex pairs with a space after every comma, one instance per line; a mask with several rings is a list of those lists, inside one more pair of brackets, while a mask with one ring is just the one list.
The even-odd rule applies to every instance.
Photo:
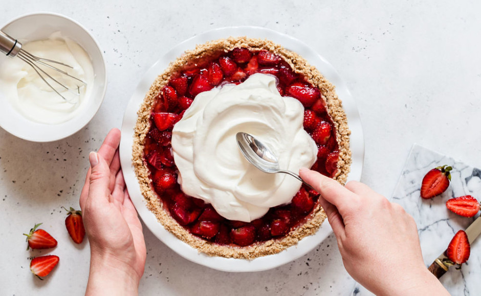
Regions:
[[430, 199], [446, 191], [451, 181], [452, 167], [438, 166], [427, 172], [421, 183], [421, 197]]

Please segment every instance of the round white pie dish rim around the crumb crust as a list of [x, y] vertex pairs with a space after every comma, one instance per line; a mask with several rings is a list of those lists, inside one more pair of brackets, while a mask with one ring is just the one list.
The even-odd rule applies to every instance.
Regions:
[[297, 245], [291, 246], [285, 251], [274, 255], [258, 257], [252, 260], [210, 257], [203, 253], [199, 253], [196, 249], [179, 240], [176, 236], [163, 228], [155, 215], [147, 209], [132, 166], [132, 145], [134, 139], [134, 127], [137, 121], [137, 110], [142, 104], [151, 83], [154, 82], [156, 77], [166, 69], [169, 62], [181, 56], [186, 50], [195, 48], [196, 44], [202, 44], [215, 39], [227, 38], [229, 36], [248, 36], [250, 38], [269, 39], [275, 43], [281, 44], [288, 50], [294, 51], [307, 59], [310, 64], [317, 67], [322, 75], [336, 86], [336, 92], [339, 98], [343, 101], [348, 125], [352, 131], [351, 149], [353, 152], [353, 164], [351, 172], [348, 175], [348, 180], [360, 180], [364, 155], [364, 142], [355, 102], [347, 90], [345, 83], [340, 79], [335, 69], [307, 45], [290, 36], [272, 30], [258, 27], [234, 27], [209, 31], [192, 37], [172, 48], [171, 51], [152, 65], [152, 67], [146, 72], [127, 105], [122, 124], [122, 140], [120, 143], [120, 157], [125, 181], [130, 197], [132, 198], [139, 215], [145, 225], [150, 231], [152, 231], [152, 233], [154, 233], [154, 235], [156, 235], [156, 237], [167, 244], [174, 252], [190, 261], [227, 272], [254, 272], [277, 267], [310, 252], [332, 233], [329, 223], [325, 221], [314, 235], [305, 237]]

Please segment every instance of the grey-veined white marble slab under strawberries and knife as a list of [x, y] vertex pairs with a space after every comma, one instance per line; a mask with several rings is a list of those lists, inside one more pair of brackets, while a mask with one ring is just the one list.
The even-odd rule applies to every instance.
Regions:
[[[421, 182], [431, 168], [451, 165], [451, 184], [441, 195], [423, 200], [420, 195]], [[418, 225], [424, 263], [431, 265], [444, 250], [454, 234], [466, 229], [473, 218], [458, 216], [445, 203], [453, 197], [472, 195], [481, 199], [481, 170], [451, 157], [414, 144], [404, 165], [401, 177], [392, 194], [391, 201], [398, 203], [414, 217]], [[460, 270], [451, 267], [440, 279], [452, 295], [480, 295], [481, 285], [481, 239], [471, 244], [471, 256]], [[365, 288], [356, 285], [353, 295], [370, 295]]]

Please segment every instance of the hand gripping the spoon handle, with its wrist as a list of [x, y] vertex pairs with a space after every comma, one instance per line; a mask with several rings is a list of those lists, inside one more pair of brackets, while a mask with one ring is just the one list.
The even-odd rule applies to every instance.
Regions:
[[345, 187], [301, 168], [300, 177], [321, 195], [347, 272], [377, 295], [449, 295], [424, 265], [416, 223], [398, 204], [368, 186]]

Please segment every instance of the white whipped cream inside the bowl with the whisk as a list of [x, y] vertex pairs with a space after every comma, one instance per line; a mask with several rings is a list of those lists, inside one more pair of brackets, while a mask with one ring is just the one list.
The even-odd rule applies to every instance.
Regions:
[[[46, 40], [37, 40], [23, 44], [24, 50], [32, 55], [51, 59], [70, 65], [73, 69], [53, 64], [70, 75], [87, 83], [68, 78], [55, 70], [43, 67], [57, 81], [70, 89], [80, 91], [76, 96], [50, 79], [47, 81], [57, 89], [68, 102], [63, 100], [38, 76], [35, 70], [19, 58], [0, 58], [0, 91], [6, 95], [12, 106], [24, 117], [41, 124], [60, 124], [79, 114], [87, 105], [94, 81], [94, 70], [89, 55], [83, 48], [60, 32], [52, 34]], [[77, 86], [80, 86], [78, 88]]]

